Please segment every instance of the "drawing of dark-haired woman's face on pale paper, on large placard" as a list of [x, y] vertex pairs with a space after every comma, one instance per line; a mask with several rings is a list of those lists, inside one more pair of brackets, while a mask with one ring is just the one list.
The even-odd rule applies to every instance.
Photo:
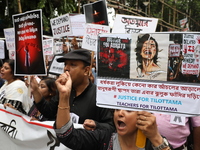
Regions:
[[134, 34], [132, 41], [130, 78], [166, 81], [169, 34]]

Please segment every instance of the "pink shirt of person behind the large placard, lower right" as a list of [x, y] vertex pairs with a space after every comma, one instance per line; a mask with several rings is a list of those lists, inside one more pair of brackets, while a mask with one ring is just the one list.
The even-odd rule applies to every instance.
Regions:
[[[161, 135], [165, 136], [173, 148], [178, 148], [185, 144], [187, 136], [190, 134], [189, 120], [185, 118], [185, 126], [170, 123], [170, 115], [154, 114], [158, 130]], [[200, 126], [200, 116], [191, 117], [193, 127]]]

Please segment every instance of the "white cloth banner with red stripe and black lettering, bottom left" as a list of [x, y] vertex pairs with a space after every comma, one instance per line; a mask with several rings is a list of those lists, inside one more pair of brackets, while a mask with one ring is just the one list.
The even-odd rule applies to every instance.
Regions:
[[[70, 150], [53, 130], [54, 121], [30, 121], [30, 117], [0, 105], [0, 145], [3, 150]], [[82, 125], [75, 124], [75, 128]]]

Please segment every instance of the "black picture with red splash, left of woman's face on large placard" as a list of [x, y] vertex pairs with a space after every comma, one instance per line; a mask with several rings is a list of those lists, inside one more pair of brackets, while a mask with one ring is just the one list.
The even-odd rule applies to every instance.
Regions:
[[129, 78], [131, 36], [99, 37], [98, 76]]

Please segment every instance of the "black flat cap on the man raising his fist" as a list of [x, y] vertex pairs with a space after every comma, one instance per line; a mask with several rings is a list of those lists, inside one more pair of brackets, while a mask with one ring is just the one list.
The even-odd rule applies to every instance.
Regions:
[[88, 64], [91, 64], [91, 53], [86, 49], [76, 49], [68, 52], [63, 57], [58, 58], [57, 62], [64, 62], [65, 60], [82, 60]]

